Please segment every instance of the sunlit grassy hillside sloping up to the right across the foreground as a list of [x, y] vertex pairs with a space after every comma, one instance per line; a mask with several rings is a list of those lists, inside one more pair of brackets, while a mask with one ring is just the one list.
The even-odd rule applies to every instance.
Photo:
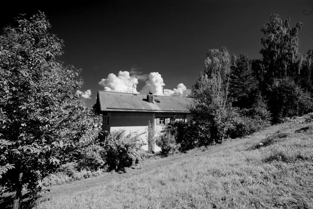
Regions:
[[307, 117], [149, 159], [126, 173], [55, 186], [35, 207], [313, 208], [313, 124], [303, 123]]

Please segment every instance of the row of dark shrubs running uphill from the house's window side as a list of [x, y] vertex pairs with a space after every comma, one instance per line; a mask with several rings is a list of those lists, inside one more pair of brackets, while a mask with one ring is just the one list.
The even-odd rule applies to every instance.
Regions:
[[[223, 115], [222, 115], [223, 114]], [[221, 143], [221, 139], [252, 134], [270, 125], [271, 114], [263, 97], [257, 97], [250, 109], [227, 107], [216, 111], [213, 120], [172, 121], [157, 138], [162, 154], [168, 155], [199, 146]], [[224, 118], [223, 120], [219, 118]], [[223, 136], [222, 136], [223, 135]]]

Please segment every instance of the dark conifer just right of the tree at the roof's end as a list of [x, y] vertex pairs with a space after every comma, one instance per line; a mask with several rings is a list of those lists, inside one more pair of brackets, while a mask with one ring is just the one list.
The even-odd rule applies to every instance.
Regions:
[[253, 75], [251, 62], [244, 53], [239, 57], [232, 57], [229, 97], [232, 98], [233, 105], [239, 108], [251, 106], [258, 90], [258, 82]]

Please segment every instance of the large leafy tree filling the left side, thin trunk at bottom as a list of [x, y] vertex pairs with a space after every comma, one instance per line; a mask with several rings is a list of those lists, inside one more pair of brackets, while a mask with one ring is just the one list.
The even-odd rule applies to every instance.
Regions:
[[90, 139], [93, 123], [76, 94], [80, 70], [56, 60], [63, 41], [48, 32], [44, 13], [17, 22], [0, 36], [0, 182], [16, 192], [14, 209], [23, 187], [39, 192], [38, 180]]

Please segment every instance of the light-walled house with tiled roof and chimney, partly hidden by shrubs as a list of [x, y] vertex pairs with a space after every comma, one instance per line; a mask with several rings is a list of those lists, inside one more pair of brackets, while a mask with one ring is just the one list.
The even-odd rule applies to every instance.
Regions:
[[[188, 107], [191, 104], [192, 98], [98, 91], [95, 113], [103, 114], [105, 134], [116, 129], [146, 132], [141, 139], [147, 143], [149, 121], [158, 134], [170, 119], [189, 121], [192, 114]], [[161, 150], [157, 145], [142, 148], [152, 152]]]

